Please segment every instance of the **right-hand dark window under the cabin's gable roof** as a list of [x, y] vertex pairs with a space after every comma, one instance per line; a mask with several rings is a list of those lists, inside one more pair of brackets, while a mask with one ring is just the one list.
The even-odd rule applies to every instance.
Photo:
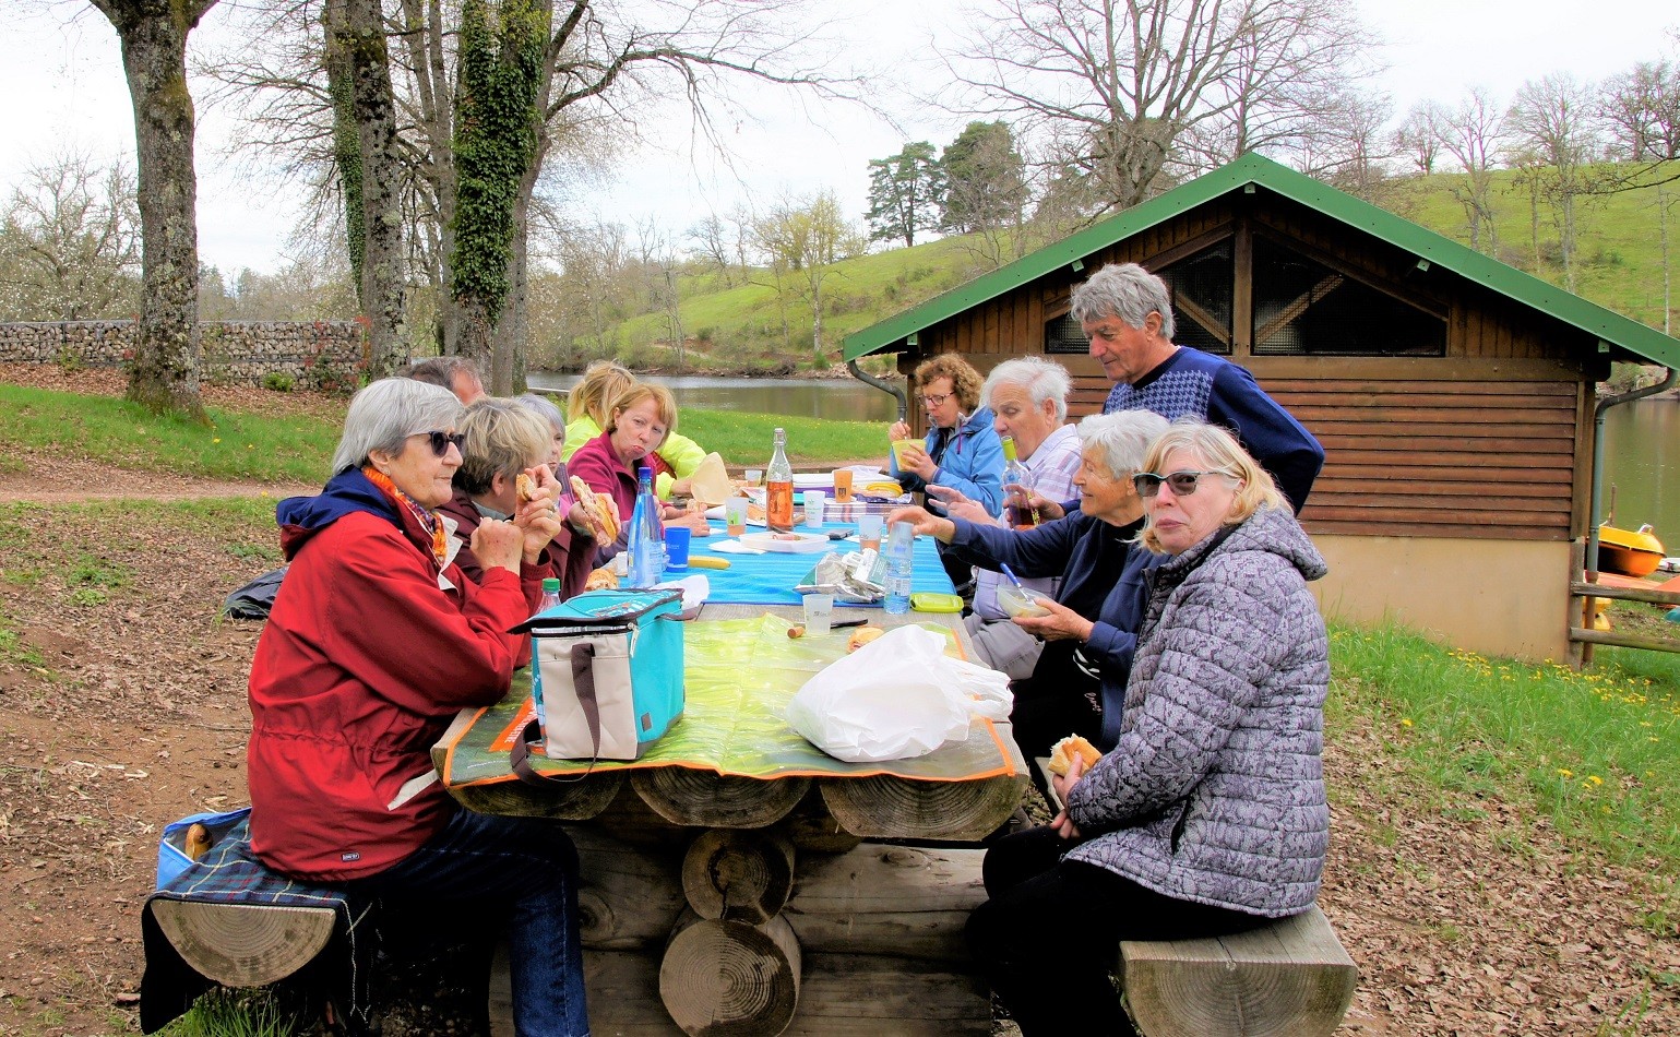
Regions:
[[1255, 356], [1445, 356], [1446, 321], [1255, 235]]

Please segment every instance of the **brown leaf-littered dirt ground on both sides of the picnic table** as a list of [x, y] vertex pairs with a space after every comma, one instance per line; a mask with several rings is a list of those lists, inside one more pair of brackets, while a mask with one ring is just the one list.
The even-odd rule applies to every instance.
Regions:
[[[0, 499], [134, 504], [0, 511], [0, 1034], [129, 1034], [160, 829], [245, 802], [260, 624], [217, 610], [276, 565], [260, 523], [163, 524], [148, 503], [301, 487], [22, 461]], [[1596, 861], [1497, 798], [1423, 795], [1389, 733], [1331, 734], [1320, 903], [1361, 973], [1342, 1032], [1680, 1034], [1680, 911], [1655, 866]]]

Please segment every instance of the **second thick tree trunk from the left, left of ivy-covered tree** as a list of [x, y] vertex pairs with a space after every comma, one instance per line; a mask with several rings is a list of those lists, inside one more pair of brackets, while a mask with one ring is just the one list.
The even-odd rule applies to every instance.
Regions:
[[[390, 52], [380, 0], [328, 3], [328, 52], [343, 50], [361, 166], [361, 311], [368, 318], [368, 376], [398, 373], [408, 358], [402, 155]], [[336, 39], [333, 39], [336, 37]]]

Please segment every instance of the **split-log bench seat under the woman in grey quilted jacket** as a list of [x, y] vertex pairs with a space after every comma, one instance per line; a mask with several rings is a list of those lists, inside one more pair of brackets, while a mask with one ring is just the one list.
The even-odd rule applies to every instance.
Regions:
[[[1035, 760], [1052, 788], [1048, 760]], [[1144, 1037], [1315, 1037], [1342, 1022], [1359, 970], [1317, 906], [1210, 940], [1122, 940], [1116, 973]]]

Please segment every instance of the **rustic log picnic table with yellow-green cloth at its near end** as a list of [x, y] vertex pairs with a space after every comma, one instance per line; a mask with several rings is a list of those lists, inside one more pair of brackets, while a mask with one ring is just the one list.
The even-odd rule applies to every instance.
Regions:
[[[931, 546], [926, 558], [922, 548], [919, 573], [942, 578]], [[917, 588], [937, 582], [927, 576]], [[837, 608], [835, 619], [853, 613], [942, 629], [968, 650], [954, 613]], [[655, 743], [635, 763], [528, 785], [507, 775], [506, 761], [522, 726], [522, 689], [462, 713], [433, 748], [445, 787], [465, 807], [568, 824], [583, 859], [595, 1034], [991, 1032], [990, 992], [968, 965], [961, 933], [984, 899], [983, 850], [961, 844], [1013, 813], [1026, 765], [1008, 726], [984, 721], [966, 743], [919, 760], [847, 765], [818, 753], [786, 728], [780, 704], [845, 654], [850, 632], [788, 640], [801, 619], [786, 602], [707, 603], [689, 627], [689, 708], [667, 738], [711, 731], [744, 756], [669, 758]], [[754, 644], [776, 661], [754, 664]], [[800, 659], [788, 661], [788, 645]], [[719, 697], [726, 684], [738, 686], [738, 701]], [[507, 1017], [497, 1008], [506, 997], [492, 987], [492, 1017]]]

